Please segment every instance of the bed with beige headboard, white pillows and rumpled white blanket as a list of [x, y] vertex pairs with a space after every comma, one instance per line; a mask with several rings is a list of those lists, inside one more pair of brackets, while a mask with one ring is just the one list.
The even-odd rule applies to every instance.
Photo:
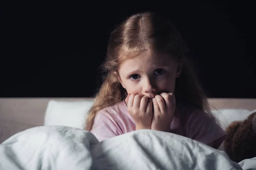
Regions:
[[[248, 114], [250, 114], [252, 111], [256, 109], [256, 99], [209, 99], [209, 102], [212, 104], [212, 106], [215, 109], [217, 109], [217, 112], [220, 111], [221, 114], [222, 113], [225, 114], [226, 118], [228, 119], [228, 121], [226, 122], [226, 125], [224, 125], [223, 128], [225, 128], [225, 126], [227, 126], [228, 123], [234, 120], [245, 119], [248, 116]], [[0, 143], [4, 142], [6, 139], [9, 139], [11, 143], [19, 139], [20, 141], [26, 142], [26, 144], [22, 142], [19, 143], [20, 145], [22, 144], [22, 146], [25, 146], [24, 148], [28, 147], [29, 150], [32, 150], [31, 148], [35, 147], [35, 150], [37, 150], [36, 153], [39, 154], [38, 156], [35, 156], [35, 150], [29, 153], [27, 152], [28, 150], [25, 151], [24, 148], [22, 150], [18, 149], [19, 151], [15, 153], [16, 154], [15, 157], [19, 158], [20, 156], [20, 158], [24, 159], [23, 154], [25, 151], [27, 152], [26, 158], [29, 157], [29, 154], [30, 154], [30, 155], [33, 155], [33, 158], [37, 159], [36, 161], [31, 161], [32, 160], [32, 157], [31, 157], [31, 159], [29, 159], [30, 160], [29, 163], [27, 159], [23, 160], [23, 164], [22, 164], [23, 169], [29, 169], [27, 167], [33, 167], [34, 169], [43, 169], [42, 166], [44, 168], [47, 168], [47, 166], [55, 167], [52, 169], [58, 169], [58, 168], [63, 169], [64, 167], [66, 168], [69, 167], [71, 169], [88, 167], [88, 169], [91, 169], [92, 167], [95, 167], [95, 166], [97, 167], [96, 169], [108, 169], [108, 167], [110, 169], [113, 167], [115, 167], [114, 169], [131, 169], [135, 167], [136, 169], [138, 169], [138, 167], [142, 169], [157, 169], [156, 165], [158, 165], [158, 167], [162, 166], [162, 168], [160, 169], [166, 169], [167, 165], [168, 165], [167, 167], [169, 168], [173, 167], [175, 169], [183, 169], [184, 167], [182, 168], [182, 166], [185, 166], [185, 163], [187, 164], [186, 168], [190, 167], [190, 169], [197, 169], [195, 167], [202, 168], [204, 166], [207, 166], [207, 168], [209, 169], [210, 159], [205, 159], [207, 156], [209, 158], [209, 155], [211, 156], [212, 160], [217, 160], [217, 159], [219, 160], [217, 161], [217, 163], [215, 161], [214, 166], [211, 166], [212, 169], [220, 168], [220, 167], [226, 167], [226, 168], [232, 167], [235, 169], [241, 169], [241, 166], [239, 166], [239, 164], [228, 161], [227, 156], [221, 150], [220, 150], [220, 153], [217, 154], [215, 150], [209, 149], [204, 144], [198, 144], [197, 142], [190, 141], [189, 139], [184, 139], [181, 136], [169, 135], [166, 133], [159, 133], [159, 132], [151, 133], [145, 130], [141, 132], [133, 132], [126, 135], [117, 136], [117, 138], [115, 139], [110, 139], [105, 142], [101, 142], [101, 144], [97, 144], [97, 140], [94, 138], [94, 136], [92, 136], [92, 134], [82, 130], [84, 126], [86, 112], [90, 108], [90, 105], [92, 104], [93, 104], [93, 98], [1, 98], [0, 99]], [[63, 133], [64, 131], [65, 133]], [[50, 136], [52, 140], [51, 138], [49, 138], [49, 136], [44, 135], [49, 133], [55, 134], [53, 135], [54, 136], [53, 138], [52, 136]], [[72, 140], [70, 140], [70, 135], [73, 136]], [[59, 136], [59, 137], [57, 138], [56, 136]], [[171, 147], [170, 145], [163, 144], [163, 141], [160, 141], [161, 136], [165, 136], [164, 138], [170, 138], [173, 140], [173, 142], [176, 141], [176, 143], [173, 144], [175, 145], [175, 148]], [[154, 145], [152, 145], [151, 143], [148, 143], [147, 145], [145, 145], [146, 138], [148, 138], [149, 141], [155, 141]], [[67, 140], [63, 140], [63, 139], [67, 139]], [[68, 141], [73, 142], [73, 139], [77, 139], [77, 141], [82, 141], [83, 144], [81, 145], [81, 143], [79, 143], [76, 145], [76, 147], [71, 148], [70, 143], [67, 143], [67, 142]], [[48, 161], [41, 160], [42, 154], [45, 155], [47, 152], [47, 149], [43, 150], [42, 146], [45, 146], [46, 143], [40, 143], [38, 142], [38, 140], [47, 141], [47, 144], [49, 144], [49, 141], [55, 141], [55, 143], [58, 143], [58, 145], [55, 146], [55, 152], [54, 152], [54, 154], [58, 155], [58, 159], [54, 159], [55, 161], [52, 161], [52, 159], [50, 160], [47, 157], [47, 160], [49, 159]], [[132, 148], [128, 148], [127, 145], [124, 145], [128, 141], [134, 144]], [[4, 146], [7, 146], [8, 144], [10, 144], [10, 142], [9, 143], [6, 142]], [[204, 149], [205, 151], [204, 154], [207, 154], [207, 156], [206, 155], [202, 156], [200, 153], [200, 155], [198, 155], [198, 158], [200, 159], [196, 161], [197, 165], [192, 165], [193, 162], [195, 162], [195, 160], [192, 160], [191, 155], [189, 157], [189, 155], [184, 153], [182, 153], [182, 156], [185, 156], [184, 158], [186, 159], [183, 159], [183, 161], [180, 161], [179, 159], [176, 161], [172, 161], [172, 163], [170, 162], [166, 163], [166, 160], [170, 160], [171, 158], [174, 159], [175, 157], [173, 155], [174, 153], [180, 154], [178, 153], [180, 152], [178, 148], [181, 146], [177, 147], [177, 144], [180, 144], [180, 143], [186, 144], [187, 153], [191, 154], [191, 152], [195, 152], [195, 149], [192, 149], [192, 148], [197, 147], [197, 148], [200, 148], [201, 150]], [[157, 147], [157, 145], [159, 146], [161, 145], [161, 147]], [[15, 144], [11, 146], [15, 147]], [[17, 146], [16, 148], [20, 148]], [[62, 147], [59, 147], [59, 146], [62, 146]], [[147, 148], [150, 146], [151, 148]], [[63, 151], [62, 149], [63, 147], [67, 149]], [[162, 147], [165, 148], [164, 150], [165, 152], [164, 153], [162, 152], [159, 156], [160, 157], [166, 156], [166, 158], [169, 158], [169, 159], [161, 159], [161, 160], [158, 160], [158, 162], [156, 162], [155, 160], [158, 159], [159, 156], [154, 157], [154, 156], [157, 156], [157, 154], [154, 153], [152, 155], [149, 154], [152, 157], [143, 158], [144, 161], [140, 160], [139, 162], [136, 162], [136, 159], [135, 159], [134, 162], [131, 163], [131, 161], [127, 161], [131, 157], [127, 158], [127, 156], [125, 156], [128, 154], [130, 155], [132, 154], [134, 156], [143, 156], [143, 155], [140, 155], [140, 153], [137, 153], [138, 148], [140, 149], [143, 148], [145, 152], [146, 151], [148, 152], [148, 149], [150, 149], [150, 150], [154, 150], [155, 152], [157, 150], [157, 153], [160, 153], [161, 149], [159, 148], [162, 148]], [[7, 152], [4, 152], [5, 151], [4, 149], [6, 148], [7, 147], [0, 148], [0, 152], [2, 151], [3, 153], [7, 153]], [[38, 148], [41, 148], [41, 150], [38, 151]], [[80, 157], [79, 157], [79, 154], [77, 154], [79, 153], [79, 151], [74, 152], [74, 148], [76, 149], [80, 148], [80, 150], [83, 150]], [[122, 150], [122, 153], [116, 152], [117, 148], [119, 148], [119, 150]], [[133, 148], [137, 148], [137, 149], [133, 150]], [[189, 150], [189, 148], [191, 150]], [[165, 155], [166, 150], [169, 150], [169, 152], [167, 152], [169, 153], [168, 155]], [[133, 153], [131, 153], [132, 151]], [[48, 152], [49, 154], [53, 154], [52, 151], [48, 151]], [[61, 157], [59, 156], [59, 153], [62, 153], [62, 155], [66, 153], [64, 155], [69, 156], [69, 158], [76, 158], [76, 159], [81, 158], [86, 161], [81, 161], [81, 160], [80, 161], [76, 160], [71, 162], [67, 161], [66, 163], [63, 164], [64, 160], [66, 160], [67, 157], [65, 156]], [[114, 159], [113, 157], [111, 157], [111, 159], [113, 159], [114, 161], [110, 159], [110, 155], [106, 156], [106, 153], [112, 154], [112, 155], [116, 154], [116, 156], [114, 156]], [[121, 154], [122, 156], [121, 155], [118, 156], [118, 154]], [[193, 154], [195, 156], [196, 154], [199, 154], [199, 153], [195, 152]], [[9, 159], [10, 156], [13, 156], [13, 155], [6, 154], [5, 156], [6, 156], [5, 160], [10, 160]], [[38, 160], [39, 158], [40, 160]], [[84, 159], [84, 158], [88, 158], [88, 159]], [[95, 161], [94, 159], [97, 161]], [[22, 162], [20, 159], [19, 161]], [[122, 162], [122, 164], [116, 163], [120, 161]], [[178, 161], [179, 163], [177, 163]], [[247, 160], [247, 162], [248, 161], [256, 162], [256, 158]], [[8, 164], [8, 161], [4, 161], [5, 166], [10, 166], [10, 167], [14, 166], [10, 162]], [[26, 165], [24, 164], [24, 162], [26, 162]], [[41, 162], [41, 165], [40, 165], [41, 167], [38, 165], [39, 164], [38, 162]], [[42, 162], [47, 162], [47, 163], [42, 164]], [[62, 162], [61, 165], [59, 164], [60, 162]], [[152, 164], [152, 162], [154, 164]], [[0, 167], [1, 167], [1, 163], [3, 164], [3, 161], [1, 162], [1, 159], [0, 159]], [[95, 165], [96, 163], [97, 165]], [[21, 166], [20, 164], [19, 166]], [[242, 169], [246, 169], [247, 167], [250, 167], [248, 166], [248, 163], [245, 164], [244, 162], [241, 162], [240, 165], [243, 165]], [[256, 164], [253, 164], [253, 165], [256, 166]], [[191, 166], [193, 166], [193, 168]], [[12, 167], [12, 169], [15, 169], [15, 167]]]

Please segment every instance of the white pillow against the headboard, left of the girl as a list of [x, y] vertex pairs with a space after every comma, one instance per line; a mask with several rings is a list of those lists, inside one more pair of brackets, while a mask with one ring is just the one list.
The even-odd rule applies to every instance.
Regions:
[[44, 117], [44, 125], [63, 125], [83, 129], [87, 111], [92, 105], [92, 100], [50, 100]]

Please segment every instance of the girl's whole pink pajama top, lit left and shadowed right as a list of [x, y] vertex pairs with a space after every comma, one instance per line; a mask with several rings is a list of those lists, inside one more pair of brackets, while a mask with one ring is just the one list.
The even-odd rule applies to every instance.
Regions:
[[[135, 122], [128, 113], [125, 101], [102, 109], [96, 114], [91, 132], [99, 142], [135, 130]], [[186, 102], [176, 102], [175, 118], [170, 132], [218, 148], [226, 137], [225, 131], [204, 111]]]

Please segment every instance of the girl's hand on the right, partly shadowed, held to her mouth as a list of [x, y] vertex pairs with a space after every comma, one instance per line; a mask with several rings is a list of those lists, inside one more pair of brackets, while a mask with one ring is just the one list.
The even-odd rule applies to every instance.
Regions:
[[151, 129], [170, 132], [170, 125], [174, 118], [175, 96], [173, 93], [161, 93], [153, 99], [154, 114]]

